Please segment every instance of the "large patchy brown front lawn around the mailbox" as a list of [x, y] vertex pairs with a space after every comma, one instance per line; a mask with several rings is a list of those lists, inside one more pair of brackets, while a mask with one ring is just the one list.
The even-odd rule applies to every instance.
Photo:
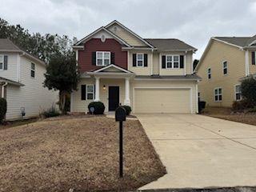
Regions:
[[0, 191], [135, 190], [166, 174], [138, 120], [124, 123], [118, 178], [113, 118], [71, 118], [0, 130]]

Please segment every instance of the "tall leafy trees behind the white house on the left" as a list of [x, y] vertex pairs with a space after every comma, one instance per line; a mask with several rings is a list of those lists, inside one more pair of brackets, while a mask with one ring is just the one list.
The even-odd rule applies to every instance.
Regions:
[[10, 38], [15, 45], [19, 46], [29, 54], [48, 63], [54, 54], [66, 54], [72, 52], [74, 40], [70, 40], [66, 35], [58, 34], [30, 34], [20, 25], [10, 25], [6, 20], [0, 18], [0, 38]]

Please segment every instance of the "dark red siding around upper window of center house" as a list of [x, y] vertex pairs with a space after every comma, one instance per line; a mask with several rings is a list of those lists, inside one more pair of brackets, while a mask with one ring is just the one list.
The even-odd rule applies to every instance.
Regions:
[[127, 69], [127, 51], [122, 51], [122, 45], [113, 38], [106, 38], [105, 42], [100, 38], [92, 38], [84, 46], [85, 50], [78, 51], [78, 63], [82, 72], [100, 68], [92, 64], [92, 52], [95, 51], [114, 52], [114, 64]]

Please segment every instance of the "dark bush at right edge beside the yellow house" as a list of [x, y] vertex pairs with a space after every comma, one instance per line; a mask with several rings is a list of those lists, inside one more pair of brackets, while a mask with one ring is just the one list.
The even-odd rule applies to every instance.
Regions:
[[242, 80], [241, 83], [242, 99], [256, 106], [256, 79], [253, 77]]

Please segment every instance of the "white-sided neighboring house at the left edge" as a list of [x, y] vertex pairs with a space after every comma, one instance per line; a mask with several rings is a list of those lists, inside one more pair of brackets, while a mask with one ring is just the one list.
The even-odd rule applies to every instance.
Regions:
[[0, 97], [6, 98], [6, 120], [38, 116], [55, 105], [58, 92], [43, 87], [46, 63], [0, 38]]

